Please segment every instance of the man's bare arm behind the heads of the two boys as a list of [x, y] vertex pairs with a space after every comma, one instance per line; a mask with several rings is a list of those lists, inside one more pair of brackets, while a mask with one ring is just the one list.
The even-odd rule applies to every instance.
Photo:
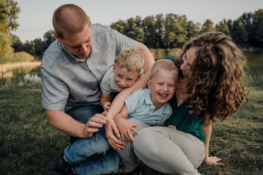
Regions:
[[153, 55], [151, 54], [150, 50], [147, 46], [137, 41], [138, 44], [138, 50], [143, 53], [144, 56], [144, 64], [143, 64], [143, 70], [144, 72], [148, 72], [151, 68], [151, 66], [154, 63]]

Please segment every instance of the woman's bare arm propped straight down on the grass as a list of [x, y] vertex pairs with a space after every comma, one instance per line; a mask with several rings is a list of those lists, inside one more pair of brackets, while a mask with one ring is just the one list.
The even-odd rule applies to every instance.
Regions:
[[216, 156], [209, 157], [209, 141], [212, 132], [212, 124], [210, 124], [209, 117], [206, 116], [203, 120], [203, 132], [205, 133], [205, 158], [204, 162], [207, 165], [225, 165], [224, 163], [218, 163], [218, 161], [222, 160]]

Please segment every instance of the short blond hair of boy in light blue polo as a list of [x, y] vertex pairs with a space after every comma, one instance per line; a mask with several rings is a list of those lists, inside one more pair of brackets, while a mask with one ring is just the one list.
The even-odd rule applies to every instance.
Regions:
[[172, 60], [160, 59], [156, 61], [150, 69], [150, 79], [153, 78], [158, 71], [173, 73], [175, 76], [176, 83], [178, 82], [179, 71]]

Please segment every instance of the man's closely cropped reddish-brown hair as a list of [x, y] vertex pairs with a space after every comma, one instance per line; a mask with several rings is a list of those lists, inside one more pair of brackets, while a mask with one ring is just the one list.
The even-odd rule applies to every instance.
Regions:
[[[89, 25], [89, 17], [82, 8], [74, 4], [64, 4], [53, 13], [52, 24], [58, 36], [75, 36]], [[90, 27], [90, 25], [89, 25]]]

